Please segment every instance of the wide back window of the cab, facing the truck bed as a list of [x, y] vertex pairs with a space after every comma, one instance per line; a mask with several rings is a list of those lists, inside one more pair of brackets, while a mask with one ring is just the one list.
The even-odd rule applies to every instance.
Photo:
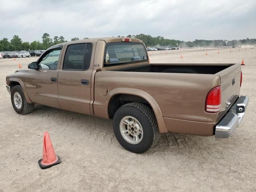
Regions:
[[138, 42], [107, 43], [104, 54], [104, 67], [147, 62], [144, 44]]

